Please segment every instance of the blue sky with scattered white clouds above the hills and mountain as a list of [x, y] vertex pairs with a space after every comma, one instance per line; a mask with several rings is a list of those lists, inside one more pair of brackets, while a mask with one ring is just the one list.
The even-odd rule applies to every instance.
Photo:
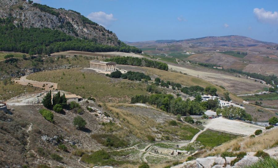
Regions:
[[80, 12], [121, 41], [240, 35], [278, 43], [277, 0], [33, 0]]

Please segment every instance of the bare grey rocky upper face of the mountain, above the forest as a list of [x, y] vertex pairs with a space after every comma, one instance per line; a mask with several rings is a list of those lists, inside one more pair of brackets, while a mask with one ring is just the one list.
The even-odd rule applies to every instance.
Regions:
[[9, 16], [15, 18], [15, 25], [20, 24], [25, 28], [51, 28], [78, 38], [92, 39], [101, 44], [119, 45], [115, 33], [75, 11], [29, 4], [24, 0], [1, 0], [0, 18]]

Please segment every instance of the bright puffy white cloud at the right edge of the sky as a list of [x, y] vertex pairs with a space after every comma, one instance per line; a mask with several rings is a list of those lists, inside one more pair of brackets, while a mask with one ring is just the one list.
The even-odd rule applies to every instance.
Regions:
[[278, 12], [265, 11], [263, 8], [255, 8], [253, 10], [255, 17], [259, 22], [278, 24]]

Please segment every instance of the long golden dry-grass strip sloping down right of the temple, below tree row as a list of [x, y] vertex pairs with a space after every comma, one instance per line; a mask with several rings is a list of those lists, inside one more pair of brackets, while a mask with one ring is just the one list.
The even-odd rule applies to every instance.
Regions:
[[[147, 71], [146, 72], [147, 75], [156, 74], [162, 80], [173, 81], [175, 83], [180, 83], [184, 86], [199, 85], [203, 88], [205, 88], [207, 86], [215, 87], [215, 88], [217, 88], [217, 94], [219, 94], [219, 96], [223, 96], [223, 93], [227, 92], [227, 90], [224, 90], [217, 85], [211, 84], [210, 82], [208, 82], [206, 80], [202, 80], [202, 79], [194, 77], [194, 76], [184, 75], [181, 73], [171, 72], [171, 71], [163, 71], [163, 70], [149, 68], [149, 67], [142, 67], [142, 68]], [[240, 97], [237, 97], [236, 95], [234, 95], [232, 93], [230, 93], [230, 97], [234, 101], [239, 101], [239, 102], [243, 101]]]

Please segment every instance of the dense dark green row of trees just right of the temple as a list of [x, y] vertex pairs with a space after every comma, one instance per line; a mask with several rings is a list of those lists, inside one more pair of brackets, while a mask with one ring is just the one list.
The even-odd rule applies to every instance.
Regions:
[[143, 67], [152, 67], [152, 68], [157, 68], [157, 69], [162, 69], [165, 71], [168, 71], [168, 65], [163, 62], [158, 62], [158, 61], [153, 61], [147, 58], [135, 58], [135, 57], [111, 57], [111, 58], [106, 58], [104, 61], [106, 62], [116, 62], [117, 64], [122, 64], [122, 65], [136, 65], [136, 66], [143, 66]]

